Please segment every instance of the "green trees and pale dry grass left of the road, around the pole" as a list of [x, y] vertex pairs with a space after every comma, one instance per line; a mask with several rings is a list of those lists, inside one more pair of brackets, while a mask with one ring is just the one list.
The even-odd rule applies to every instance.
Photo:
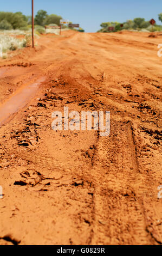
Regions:
[[[45, 29], [45, 26], [59, 26], [61, 16], [56, 14], [48, 15], [47, 11], [39, 10], [34, 19], [34, 33], [38, 37], [40, 34], [55, 33], [59, 34], [59, 29]], [[62, 25], [62, 29], [68, 28]], [[84, 32], [82, 28], [75, 29]], [[22, 36], [21, 36], [22, 35]], [[25, 16], [21, 12], [11, 13], [0, 11], [0, 46], [3, 53], [14, 51], [18, 48], [27, 47], [31, 41], [31, 16]], [[5, 57], [5, 54], [3, 54]]]

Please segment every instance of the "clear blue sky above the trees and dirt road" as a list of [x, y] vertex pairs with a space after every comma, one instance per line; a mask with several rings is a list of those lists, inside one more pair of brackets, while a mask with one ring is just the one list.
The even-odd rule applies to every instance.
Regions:
[[[158, 14], [162, 13], [162, 0], [34, 0], [34, 9], [35, 14], [43, 9], [48, 14], [79, 23], [86, 32], [96, 32], [102, 22], [124, 22], [135, 17], [153, 18], [160, 24]], [[31, 0], [1, 1], [1, 11], [22, 11], [30, 15]]]

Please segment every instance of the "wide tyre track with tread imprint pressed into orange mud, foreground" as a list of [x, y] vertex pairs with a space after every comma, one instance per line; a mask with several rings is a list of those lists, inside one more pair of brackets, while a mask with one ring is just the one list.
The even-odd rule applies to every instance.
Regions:
[[137, 184], [133, 185], [137, 182], [138, 168], [131, 131], [126, 123], [119, 127], [113, 121], [111, 127], [110, 138], [99, 138], [93, 167], [84, 174], [94, 187], [89, 241], [107, 245], [150, 244]]

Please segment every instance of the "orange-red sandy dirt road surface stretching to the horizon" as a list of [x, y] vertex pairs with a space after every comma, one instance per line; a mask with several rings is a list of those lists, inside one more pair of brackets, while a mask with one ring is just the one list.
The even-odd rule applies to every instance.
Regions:
[[[0, 62], [1, 245], [161, 245], [162, 57], [148, 33], [46, 35]], [[53, 131], [51, 113], [110, 111], [111, 133]]]

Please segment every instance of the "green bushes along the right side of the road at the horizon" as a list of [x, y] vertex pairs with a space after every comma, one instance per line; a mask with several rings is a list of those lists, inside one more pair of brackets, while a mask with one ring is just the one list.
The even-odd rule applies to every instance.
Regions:
[[[159, 14], [159, 21], [162, 22], [162, 13]], [[155, 32], [155, 31], [162, 31], [162, 26], [151, 25], [150, 21], [145, 21], [144, 18], [135, 18], [134, 20], [127, 20], [124, 23], [120, 22], [103, 22], [101, 23], [101, 29], [98, 32], [118, 32], [122, 30], [128, 31], [141, 31], [141, 32]], [[109, 29], [109, 27], [113, 27], [113, 29]]]

